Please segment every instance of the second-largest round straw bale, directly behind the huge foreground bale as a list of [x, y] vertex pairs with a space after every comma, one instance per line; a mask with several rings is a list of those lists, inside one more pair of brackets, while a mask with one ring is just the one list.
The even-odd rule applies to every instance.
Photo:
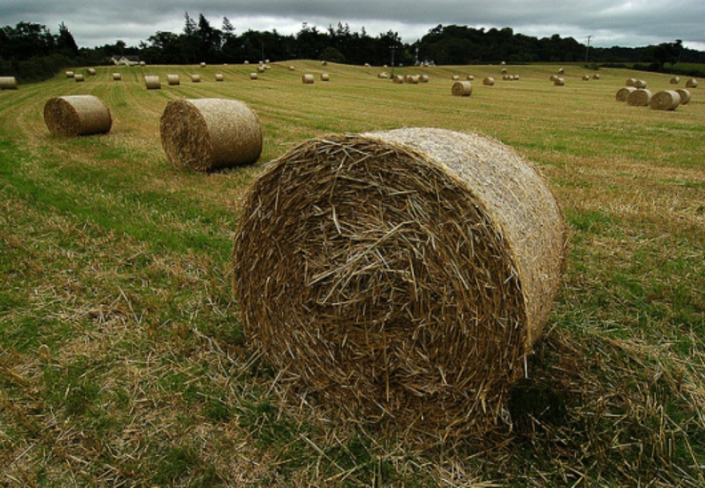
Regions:
[[164, 152], [177, 169], [252, 164], [262, 153], [259, 118], [238, 100], [173, 100], [161, 114], [159, 130]]

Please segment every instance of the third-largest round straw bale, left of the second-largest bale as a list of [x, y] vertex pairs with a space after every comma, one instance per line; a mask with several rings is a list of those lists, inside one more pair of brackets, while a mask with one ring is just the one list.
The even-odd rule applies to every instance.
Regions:
[[93, 95], [52, 97], [44, 104], [44, 123], [53, 135], [106, 134], [113, 119], [108, 107]]

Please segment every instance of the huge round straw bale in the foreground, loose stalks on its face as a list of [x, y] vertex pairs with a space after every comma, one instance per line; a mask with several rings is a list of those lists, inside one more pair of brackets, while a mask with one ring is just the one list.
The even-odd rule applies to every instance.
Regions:
[[278, 378], [343, 418], [439, 439], [501, 423], [564, 255], [556, 200], [515, 152], [407, 128], [273, 161], [245, 201], [233, 279]]

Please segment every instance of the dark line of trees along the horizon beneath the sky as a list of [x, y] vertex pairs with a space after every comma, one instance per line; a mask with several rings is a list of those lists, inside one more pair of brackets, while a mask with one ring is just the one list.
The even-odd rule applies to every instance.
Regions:
[[184, 15], [181, 32], [157, 31], [137, 46], [115, 44], [79, 48], [66, 25], [56, 35], [44, 25], [20, 22], [0, 29], [0, 73], [20, 79], [43, 79], [66, 66], [98, 65], [112, 56], [139, 56], [153, 64], [243, 63], [319, 59], [374, 66], [409, 66], [417, 63], [466, 65], [479, 63], [590, 63], [637, 64], [654, 71], [676, 71], [676, 63], [705, 63], [705, 52], [687, 49], [682, 41], [646, 47], [590, 47], [572, 37], [530, 37], [511, 28], [471, 28], [437, 25], [413, 43], [398, 32], [376, 36], [350, 30], [347, 23], [319, 30], [302, 24], [292, 35], [275, 30], [245, 30], [241, 34], [227, 17], [214, 27], [201, 13]]

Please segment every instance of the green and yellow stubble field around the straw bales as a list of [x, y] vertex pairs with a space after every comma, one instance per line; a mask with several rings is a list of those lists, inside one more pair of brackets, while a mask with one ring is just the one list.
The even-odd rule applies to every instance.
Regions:
[[[704, 87], [664, 112], [615, 102], [627, 78], [673, 88], [656, 73], [583, 81], [565, 66], [555, 87], [557, 66], [508, 66], [517, 81], [499, 66], [396, 68], [430, 80], [395, 85], [382, 68], [271, 66], [256, 81], [255, 66], [101, 67], [0, 92], [1, 486], [705, 486]], [[451, 96], [455, 74], [475, 76], [471, 97]], [[100, 97], [111, 133], [49, 135], [44, 103], [66, 94]], [[259, 163], [173, 169], [159, 117], [184, 97], [246, 102]], [[233, 235], [263, 164], [315, 136], [402, 126], [513, 146], [570, 228], [513, 430], [489, 439], [422, 449], [283, 404], [240, 328]]]

